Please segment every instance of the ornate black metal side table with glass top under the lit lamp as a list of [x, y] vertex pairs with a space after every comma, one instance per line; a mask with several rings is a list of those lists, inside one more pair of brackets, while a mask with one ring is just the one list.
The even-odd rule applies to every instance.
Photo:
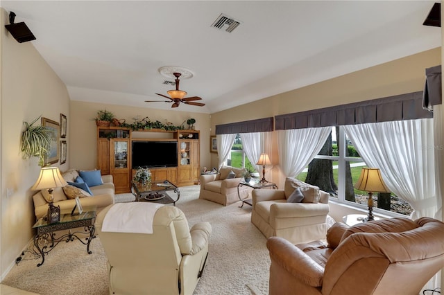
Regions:
[[[34, 247], [33, 249], [27, 251], [31, 251], [42, 258], [42, 262], [38, 263], [37, 267], [43, 265], [44, 256], [62, 241], [70, 242], [74, 241], [74, 239], [77, 239], [82, 244], [87, 245], [86, 251], [88, 254], [92, 253], [92, 251], [89, 251], [89, 244], [91, 244], [91, 240], [93, 238], [96, 238], [94, 235], [94, 233], [96, 232], [96, 229], [94, 227], [94, 221], [96, 219], [96, 208], [86, 208], [86, 210], [87, 211], [83, 212], [80, 215], [71, 215], [71, 213], [61, 214], [60, 222], [55, 222], [52, 224], [48, 223], [45, 217], [42, 217], [40, 218], [40, 220], [37, 220], [37, 222], [35, 222], [33, 229], [37, 229], [37, 233], [34, 236]], [[81, 227], [83, 227], [83, 231], [74, 231], [71, 233], [71, 229]], [[55, 232], [62, 230], [69, 230], [69, 232], [61, 235], [59, 238], [56, 237]], [[87, 235], [87, 237], [80, 238], [80, 234], [84, 236]], [[24, 254], [25, 251], [22, 252], [22, 256], [24, 256]], [[22, 260], [22, 256], [17, 258], [16, 263]]]

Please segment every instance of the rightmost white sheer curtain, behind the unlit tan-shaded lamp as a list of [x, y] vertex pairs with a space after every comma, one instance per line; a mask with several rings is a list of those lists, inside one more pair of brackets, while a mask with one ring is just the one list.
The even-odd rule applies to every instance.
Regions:
[[388, 188], [409, 202], [411, 218], [434, 217], [433, 119], [347, 125], [345, 132], [368, 166], [379, 168]]

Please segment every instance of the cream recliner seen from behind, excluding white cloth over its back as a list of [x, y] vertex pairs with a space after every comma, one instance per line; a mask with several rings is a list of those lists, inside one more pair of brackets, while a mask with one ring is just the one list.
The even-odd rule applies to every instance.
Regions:
[[[95, 223], [108, 258], [110, 294], [193, 294], [207, 260], [210, 223], [199, 222], [190, 230], [179, 208], [160, 206], [151, 234], [102, 231], [112, 206], [127, 204], [132, 203], [108, 206]], [[130, 215], [130, 222], [143, 222], [140, 215]]]

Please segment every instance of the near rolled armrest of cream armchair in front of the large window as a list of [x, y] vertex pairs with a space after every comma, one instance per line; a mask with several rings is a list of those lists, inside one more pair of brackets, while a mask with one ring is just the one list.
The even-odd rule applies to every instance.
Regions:
[[270, 220], [276, 217], [327, 216], [330, 208], [322, 203], [275, 203], [270, 207]]

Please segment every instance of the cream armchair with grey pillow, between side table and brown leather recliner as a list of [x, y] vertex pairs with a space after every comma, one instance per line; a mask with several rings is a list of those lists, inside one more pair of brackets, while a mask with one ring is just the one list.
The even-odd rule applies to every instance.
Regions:
[[278, 236], [293, 244], [325, 240], [329, 194], [317, 186], [287, 177], [284, 190], [253, 190], [251, 222], [266, 238]]

